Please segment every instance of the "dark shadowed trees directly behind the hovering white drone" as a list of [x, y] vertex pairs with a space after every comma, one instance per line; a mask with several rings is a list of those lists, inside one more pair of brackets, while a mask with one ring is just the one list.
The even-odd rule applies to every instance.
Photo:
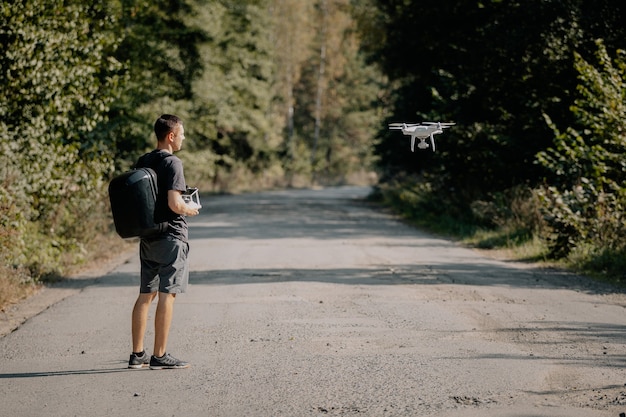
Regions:
[[388, 121], [457, 123], [436, 154], [407, 153], [404, 138], [382, 131], [376, 153], [385, 178], [423, 175], [463, 205], [539, 183], [547, 173], [533, 161], [552, 137], [542, 114], [572, 121], [573, 51], [586, 54], [589, 38], [610, 34], [615, 44], [624, 34], [608, 12], [624, 16], [624, 6], [603, 3], [374, 1], [384, 41], [366, 37], [365, 47], [394, 86]]

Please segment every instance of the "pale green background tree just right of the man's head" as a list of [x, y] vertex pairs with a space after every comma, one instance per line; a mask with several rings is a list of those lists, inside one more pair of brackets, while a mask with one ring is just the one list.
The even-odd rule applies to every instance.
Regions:
[[273, 125], [275, 64], [266, 1], [215, 2], [203, 9], [209, 29], [200, 45], [204, 66], [194, 83], [196, 146], [230, 169], [259, 172], [281, 143]]

